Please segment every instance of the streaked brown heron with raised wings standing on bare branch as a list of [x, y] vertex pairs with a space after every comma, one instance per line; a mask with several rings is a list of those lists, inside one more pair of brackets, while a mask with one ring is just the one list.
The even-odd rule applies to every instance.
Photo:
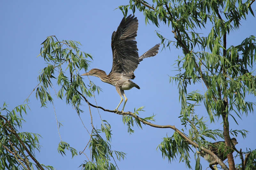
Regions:
[[[134, 79], [134, 71], [138, 64], [146, 57], [155, 56], [158, 53], [160, 43], [150, 48], [147, 52], [139, 57], [137, 42], [138, 19], [134, 15], [123, 18], [117, 30], [112, 33], [111, 48], [113, 54], [113, 64], [110, 73], [107, 75], [105, 71], [100, 69], [92, 69], [81, 76], [96, 76], [101, 81], [116, 87], [116, 91], [121, 97], [119, 104], [114, 111], [118, 112], [118, 107], [123, 101], [124, 106], [127, 98], [124, 90], [130, 90], [132, 87], [140, 89], [139, 85], [132, 82]], [[121, 110], [124, 113], [124, 106]]]

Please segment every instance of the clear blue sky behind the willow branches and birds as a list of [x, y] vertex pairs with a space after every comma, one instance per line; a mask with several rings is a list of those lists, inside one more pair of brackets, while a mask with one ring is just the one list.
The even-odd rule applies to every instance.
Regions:
[[[2, 1], [0, 4], [0, 51], [1, 51], [1, 90], [0, 103], [9, 103], [9, 109], [23, 104], [24, 100], [38, 84], [37, 76], [46, 64], [42, 57], [36, 57], [40, 44], [47, 36], [56, 35], [59, 40], [80, 41], [81, 50], [93, 56], [90, 68], [99, 68], [110, 72], [112, 66], [112, 51], [110, 47], [112, 32], [116, 30], [123, 14], [116, 9], [119, 5], [128, 4], [128, 0], [115, 1]], [[256, 3], [253, 3], [255, 11]], [[115, 10], [116, 9], [116, 10]], [[132, 13], [129, 11], [128, 13]], [[139, 20], [137, 33], [137, 45], [139, 55], [153, 47], [160, 40], [155, 30], [164, 36], [174, 40], [172, 29], [161, 25], [160, 28], [152, 24], [145, 25], [143, 13], [135, 13]], [[249, 15], [248, 21], [244, 21], [241, 29], [230, 33], [227, 38], [228, 45], [237, 45], [250, 35], [255, 35], [256, 19]], [[161, 46], [162, 47], [162, 46]], [[128, 98], [124, 111], [133, 111], [134, 107], [145, 106], [145, 112], [141, 117], [156, 115], [156, 124], [175, 125], [183, 128], [178, 118], [180, 102], [177, 86], [169, 83], [169, 76], [176, 74], [173, 66], [178, 55], [183, 55], [180, 49], [171, 47], [171, 51], [163, 50], [155, 57], [144, 59], [135, 71], [134, 82], [140, 86], [140, 90], [133, 88], [126, 91]], [[80, 74], [84, 73], [81, 71]], [[103, 92], [95, 95], [99, 106], [114, 109], [120, 101], [116, 89], [103, 83], [99, 78], [90, 79], [102, 88]], [[84, 82], [88, 83], [87, 77]], [[58, 87], [55, 87], [58, 90]], [[203, 91], [202, 84], [193, 85], [192, 90]], [[54, 93], [52, 92], [52, 95]], [[248, 97], [255, 101], [255, 98]], [[90, 99], [91, 103], [95, 100]], [[1, 104], [1, 105], [2, 105]], [[122, 106], [123, 104], [121, 104]], [[71, 159], [71, 154], [62, 157], [57, 152], [60, 142], [56, 119], [52, 105], [47, 108], [40, 107], [40, 101], [36, 100], [35, 92], [30, 96], [30, 111], [24, 116], [27, 121], [23, 123], [22, 131], [38, 133], [42, 136], [41, 152], [36, 152], [36, 159], [44, 164], [51, 165], [58, 170], [77, 169], [87, 158], [82, 154]], [[89, 135], [82, 122], [71, 106], [54, 97], [54, 106], [58, 121], [63, 124], [60, 135], [63, 141], [69, 143], [78, 152], [83, 151], [89, 140]], [[88, 106], [84, 102], [84, 113], [81, 118], [90, 131], [90, 117]], [[94, 126], [100, 128], [100, 118], [107, 120], [112, 129], [112, 150], [127, 153], [124, 161], [117, 165], [121, 170], [128, 169], [186, 169], [185, 164], [174, 161], [172, 164], [162, 158], [162, 153], [156, 150], [162, 138], [171, 136], [172, 129], [156, 129], [142, 125], [143, 130], [134, 127], [135, 133], [129, 135], [127, 126], [122, 122], [122, 116], [113, 113], [92, 109]], [[255, 109], [255, 107], [254, 107]], [[207, 116], [205, 110], [197, 109], [198, 114]], [[237, 148], [255, 149], [255, 116], [243, 116], [243, 120], [237, 118], [239, 126], [231, 120], [232, 129], [246, 129], [250, 133], [246, 139], [241, 135], [237, 137]], [[212, 129], [222, 129], [221, 120], [210, 125]], [[85, 152], [89, 156], [89, 151]], [[194, 167], [194, 156], [191, 153], [191, 165]], [[207, 162], [201, 159], [203, 169]], [[238, 160], [236, 160], [238, 163]]]

